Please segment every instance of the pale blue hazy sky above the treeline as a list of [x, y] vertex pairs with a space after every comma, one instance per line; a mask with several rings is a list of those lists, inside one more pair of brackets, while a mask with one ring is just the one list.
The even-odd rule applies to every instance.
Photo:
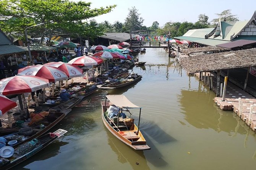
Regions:
[[[74, 0], [78, 1], [78, 0]], [[149, 27], [154, 21], [159, 26], [164, 26], [166, 22], [196, 22], [199, 14], [209, 17], [208, 21], [218, 18], [215, 13], [224, 10], [231, 10], [233, 15], [237, 15], [240, 21], [251, 19], [255, 7], [255, 0], [82, 0], [91, 2], [91, 8], [117, 5], [110, 13], [97, 16], [94, 19], [98, 23], [105, 20], [113, 24], [115, 21], [125, 22], [129, 10], [132, 6], [138, 10], [144, 19], [143, 25]]]

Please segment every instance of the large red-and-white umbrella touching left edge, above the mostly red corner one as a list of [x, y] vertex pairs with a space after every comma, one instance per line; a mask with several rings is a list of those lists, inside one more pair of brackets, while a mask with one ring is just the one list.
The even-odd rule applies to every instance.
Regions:
[[16, 75], [0, 80], [0, 94], [16, 95], [50, 87], [49, 80], [36, 76]]

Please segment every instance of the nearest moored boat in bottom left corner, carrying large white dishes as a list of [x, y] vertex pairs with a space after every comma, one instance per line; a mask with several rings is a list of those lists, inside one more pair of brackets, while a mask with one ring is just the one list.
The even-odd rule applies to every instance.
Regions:
[[[8, 169], [18, 165], [19, 163], [23, 162], [24, 160], [27, 160], [29, 157], [31, 157], [34, 154], [36, 154], [37, 152], [41, 151], [43, 148], [48, 146], [50, 143], [55, 141], [57, 138], [64, 135], [66, 132], [68, 132], [68, 131], [58, 129], [57, 131], [55, 131], [53, 133], [47, 133], [38, 138], [34, 138], [33, 141], [31, 141], [31, 142], [24, 143], [24, 145], [19, 146], [18, 148], [15, 149], [15, 154], [13, 154], [12, 157], [9, 157], [9, 158], [0, 157], [0, 160], [2, 160], [1, 165], [0, 165], [0, 170], [8, 170]], [[31, 151], [26, 153], [25, 151], [22, 150], [23, 148], [28, 148], [31, 145], [34, 145], [34, 149], [32, 149]], [[21, 151], [22, 152], [22, 153], [20, 153], [21, 155], [16, 154], [16, 152], [17, 153], [19, 152], [19, 149], [23, 151], [23, 152]], [[17, 156], [17, 157], [14, 157], [14, 156]]]

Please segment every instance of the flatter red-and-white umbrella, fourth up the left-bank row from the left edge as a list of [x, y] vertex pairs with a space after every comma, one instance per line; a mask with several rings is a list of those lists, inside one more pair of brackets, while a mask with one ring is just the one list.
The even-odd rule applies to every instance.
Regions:
[[93, 66], [103, 63], [103, 60], [92, 56], [81, 56], [71, 59], [68, 63], [75, 66]]

